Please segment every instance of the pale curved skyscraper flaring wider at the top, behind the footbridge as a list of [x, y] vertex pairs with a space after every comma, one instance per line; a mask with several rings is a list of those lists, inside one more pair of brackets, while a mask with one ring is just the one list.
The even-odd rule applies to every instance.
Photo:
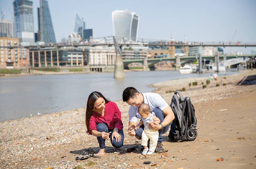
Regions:
[[112, 22], [114, 36], [129, 37], [129, 39], [136, 41], [138, 36], [138, 15], [126, 10], [115, 10], [112, 12]]

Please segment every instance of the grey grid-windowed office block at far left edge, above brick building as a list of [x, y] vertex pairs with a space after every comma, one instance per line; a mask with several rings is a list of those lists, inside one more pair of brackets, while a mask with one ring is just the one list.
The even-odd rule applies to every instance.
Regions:
[[12, 20], [0, 19], [0, 37], [13, 37]]

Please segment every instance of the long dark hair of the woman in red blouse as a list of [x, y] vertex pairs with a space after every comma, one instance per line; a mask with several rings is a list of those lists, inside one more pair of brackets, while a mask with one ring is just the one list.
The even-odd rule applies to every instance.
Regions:
[[86, 133], [89, 133], [89, 120], [92, 116], [92, 112], [93, 112], [93, 104], [95, 103], [95, 101], [99, 98], [102, 97], [106, 103], [109, 102], [108, 99], [106, 99], [100, 92], [92, 92], [89, 96], [88, 96], [88, 100], [87, 100], [87, 105], [86, 105], [86, 112], [85, 112], [85, 125], [87, 128]]

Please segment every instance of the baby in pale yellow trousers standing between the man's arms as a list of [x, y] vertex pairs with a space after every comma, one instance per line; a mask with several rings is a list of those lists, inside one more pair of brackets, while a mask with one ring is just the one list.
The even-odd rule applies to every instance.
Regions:
[[[135, 130], [140, 128], [144, 124], [144, 131], [142, 132], [141, 136], [141, 145], [144, 147], [144, 150], [142, 151], [142, 154], [149, 155], [153, 154], [155, 152], [155, 147], [157, 145], [157, 140], [159, 136], [158, 130], [152, 130], [148, 128], [148, 124], [151, 123], [151, 121], [155, 121], [157, 123], [160, 123], [159, 118], [155, 116], [155, 113], [150, 113], [149, 106], [145, 103], [142, 103], [138, 107], [138, 113], [141, 116], [142, 120], [137, 124], [135, 127]], [[150, 146], [147, 147], [148, 139], [150, 139]]]

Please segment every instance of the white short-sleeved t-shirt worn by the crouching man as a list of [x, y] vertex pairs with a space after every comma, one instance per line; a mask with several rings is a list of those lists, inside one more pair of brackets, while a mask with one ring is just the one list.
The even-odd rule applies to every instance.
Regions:
[[[161, 110], [167, 108], [169, 106], [166, 101], [157, 93], [141, 93], [144, 97], [144, 103], [149, 106], [149, 110], [152, 111], [155, 108], [159, 108]], [[139, 119], [142, 119], [138, 113], [138, 107], [130, 106], [129, 108], [129, 121], [137, 122]]]

